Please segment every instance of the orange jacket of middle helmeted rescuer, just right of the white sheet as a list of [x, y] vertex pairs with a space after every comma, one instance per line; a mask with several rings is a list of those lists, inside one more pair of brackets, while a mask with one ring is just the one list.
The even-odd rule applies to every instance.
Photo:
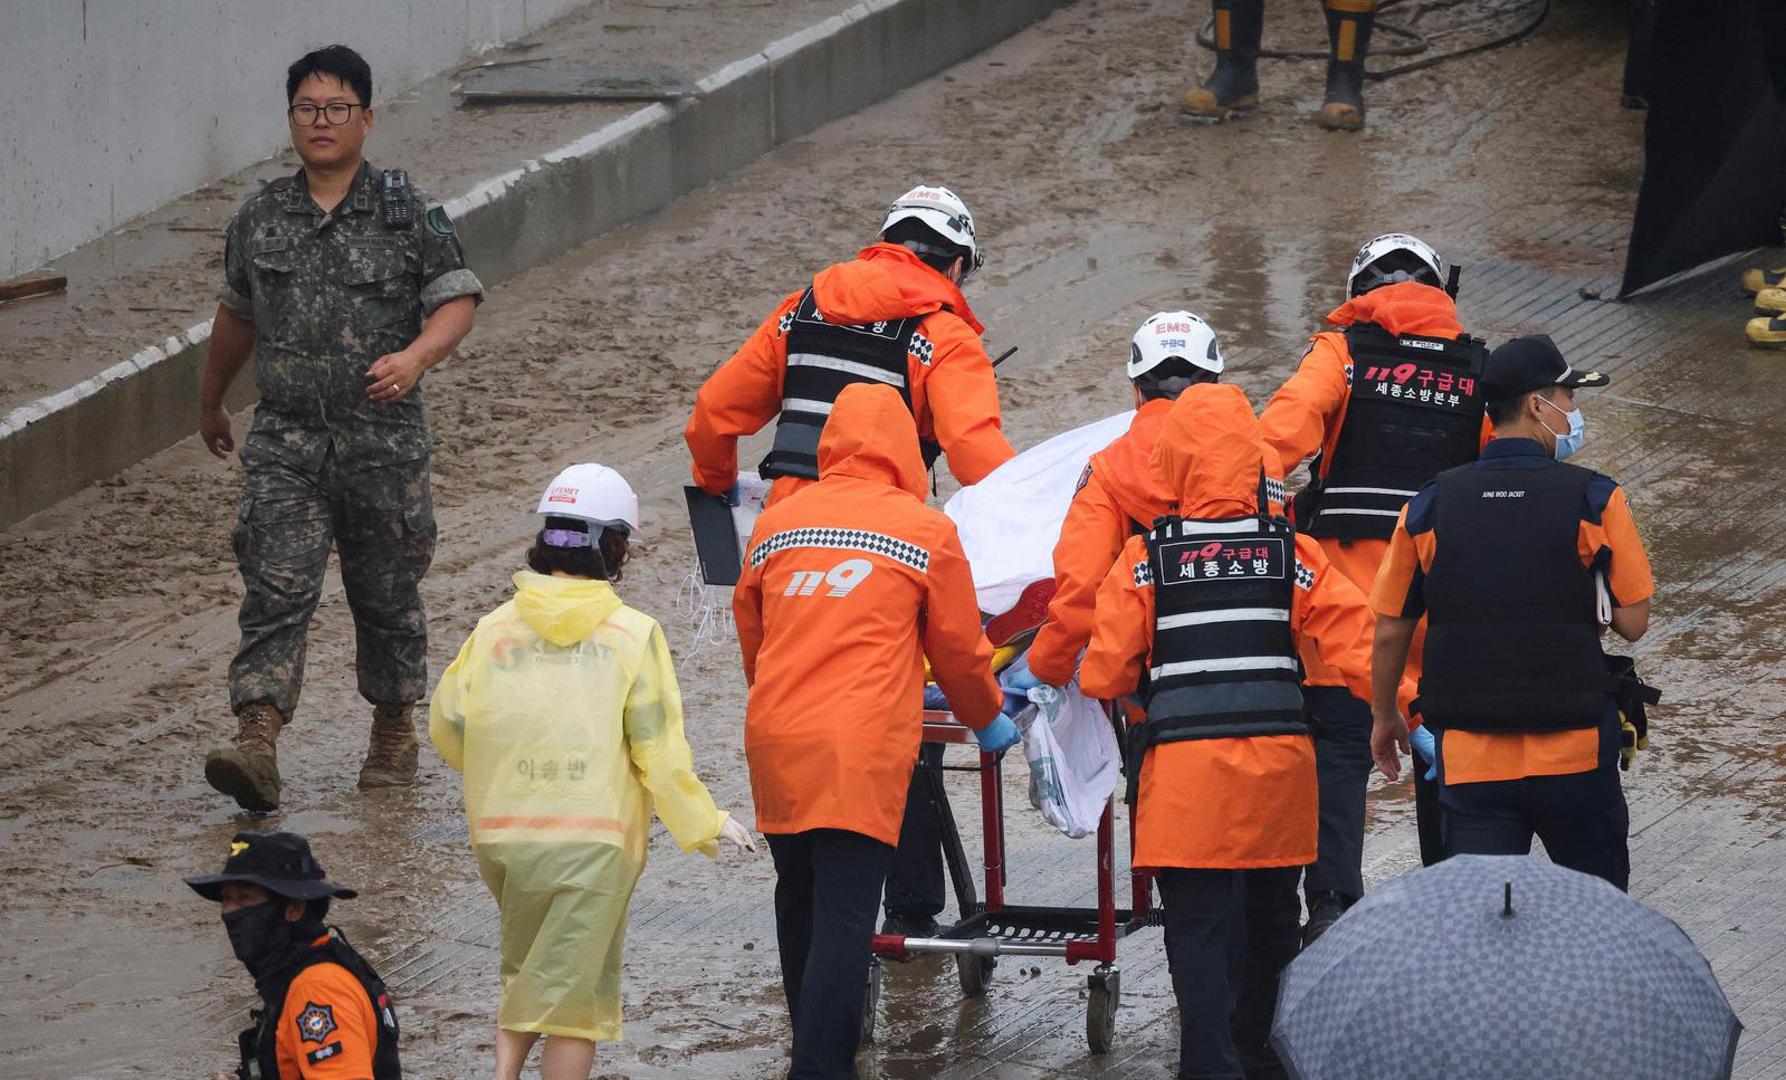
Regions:
[[1170, 514], [1177, 505], [1172, 489], [1148, 464], [1170, 412], [1168, 398], [1143, 402], [1129, 430], [1091, 455], [1066, 507], [1061, 539], [1054, 544], [1056, 591], [1048, 621], [1029, 646], [1029, 669], [1048, 685], [1072, 682], [1079, 653], [1091, 641], [1098, 586], [1136, 525], [1150, 528], [1154, 518]]

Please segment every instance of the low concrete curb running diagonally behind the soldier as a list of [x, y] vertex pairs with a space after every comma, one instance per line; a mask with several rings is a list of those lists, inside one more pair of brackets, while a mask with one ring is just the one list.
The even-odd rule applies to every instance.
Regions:
[[[864, 0], [446, 204], [497, 284], [1022, 30], [1068, 0]], [[205, 320], [0, 418], [0, 527], [193, 434]], [[230, 407], [254, 400], [238, 377]]]

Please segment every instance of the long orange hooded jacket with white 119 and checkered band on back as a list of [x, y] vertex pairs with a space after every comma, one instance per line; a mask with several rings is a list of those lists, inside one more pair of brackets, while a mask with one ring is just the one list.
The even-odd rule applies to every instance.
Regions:
[[889, 386], [838, 395], [818, 482], [763, 511], [732, 594], [757, 828], [898, 843], [923, 732], [923, 660], [956, 719], [1004, 703], [956, 525], [923, 505], [911, 412]]

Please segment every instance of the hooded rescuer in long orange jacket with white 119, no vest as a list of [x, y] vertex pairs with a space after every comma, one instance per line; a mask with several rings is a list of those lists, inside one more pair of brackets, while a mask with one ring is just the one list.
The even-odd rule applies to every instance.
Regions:
[[923, 732], [925, 657], [982, 748], [1018, 741], [961, 539], [923, 505], [911, 411], [888, 386], [848, 386], [830, 416], [818, 484], [763, 511], [732, 594], [795, 1078], [855, 1075], [868, 941]]

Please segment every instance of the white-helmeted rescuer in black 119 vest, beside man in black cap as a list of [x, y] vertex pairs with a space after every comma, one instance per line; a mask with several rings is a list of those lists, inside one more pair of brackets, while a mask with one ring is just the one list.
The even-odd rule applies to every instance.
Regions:
[[[1490, 437], [1481, 371], [1488, 352], [1465, 336], [1440, 286], [1445, 261], [1413, 236], [1379, 236], [1359, 248], [1348, 300], [1327, 316], [1297, 373], [1259, 421], [1284, 471], [1313, 477], [1297, 496], [1297, 528], [1363, 593], [1377, 577], [1395, 514], [1443, 469], [1475, 461]], [[1309, 725], [1322, 777], [1322, 843], [1304, 875], [1313, 943], [1365, 894], [1365, 785], [1370, 705], [1304, 652]], [[1418, 652], [1416, 652], [1418, 671]], [[1436, 785], [1415, 769], [1422, 860], [1443, 857]]]

